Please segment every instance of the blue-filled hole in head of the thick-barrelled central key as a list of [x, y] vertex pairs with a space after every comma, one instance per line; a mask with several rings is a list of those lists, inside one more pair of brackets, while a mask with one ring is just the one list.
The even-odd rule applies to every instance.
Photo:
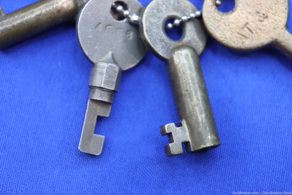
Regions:
[[[178, 41], [183, 36], [183, 24], [180, 23], [179, 25], [175, 25], [174, 24], [175, 19], [177, 18], [170, 18], [166, 20], [164, 24], [164, 31], [169, 38]], [[172, 24], [172, 28], [168, 27], [169, 24]]]

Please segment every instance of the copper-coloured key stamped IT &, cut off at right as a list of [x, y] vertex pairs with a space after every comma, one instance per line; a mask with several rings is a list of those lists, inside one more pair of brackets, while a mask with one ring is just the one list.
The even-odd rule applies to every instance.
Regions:
[[288, 0], [235, 0], [233, 10], [223, 13], [215, 0], [205, 0], [202, 14], [209, 34], [224, 46], [239, 51], [275, 46], [292, 58], [288, 8]]

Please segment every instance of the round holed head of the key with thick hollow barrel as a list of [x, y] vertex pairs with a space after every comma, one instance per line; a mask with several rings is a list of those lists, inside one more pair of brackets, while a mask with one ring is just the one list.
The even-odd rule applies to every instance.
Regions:
[[142, 11], [140, 17], [141, 37], [158, 58], [168, 60], [171, 51], [179, 44], [192, 47], [198, 54], [206, 46], [206, 32], [200, 20], [183, 24], [183, 35], [175, 41], [165, 32], [165, 22], [196, 12], [198, 9], [187, 0], [153, 0]]

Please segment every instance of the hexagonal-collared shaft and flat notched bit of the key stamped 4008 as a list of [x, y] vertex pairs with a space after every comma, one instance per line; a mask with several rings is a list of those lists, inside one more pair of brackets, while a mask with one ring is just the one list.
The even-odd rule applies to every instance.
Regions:
[[98, 116], [109, 117], [120, 78], [121, 69], [116, 65], [112, 53], [92, 65], [88, 83], [90, 94], [79, 142], [81, 152], [101, 154], [105, 137], [94, 134], [96, 120]]

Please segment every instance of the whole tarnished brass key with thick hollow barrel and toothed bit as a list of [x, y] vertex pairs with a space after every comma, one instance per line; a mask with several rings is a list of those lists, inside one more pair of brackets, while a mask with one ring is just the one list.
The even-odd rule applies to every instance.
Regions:
[[148, 49], [166, 62], [173, 94], [180, 116], [174, 123], [162, 125], [161, 135], [168, 135], [166, 156], [187, 151], [201, 151], [220, 145], [198, 55], [206, 45], [206, 32], [199, 20], [183, 25], [183, 37], [174, 41], [164, 32], [168, 19], [182, 18], [197, 8], [187, 0], [153, 0], [142, 11], [140, 33]]

